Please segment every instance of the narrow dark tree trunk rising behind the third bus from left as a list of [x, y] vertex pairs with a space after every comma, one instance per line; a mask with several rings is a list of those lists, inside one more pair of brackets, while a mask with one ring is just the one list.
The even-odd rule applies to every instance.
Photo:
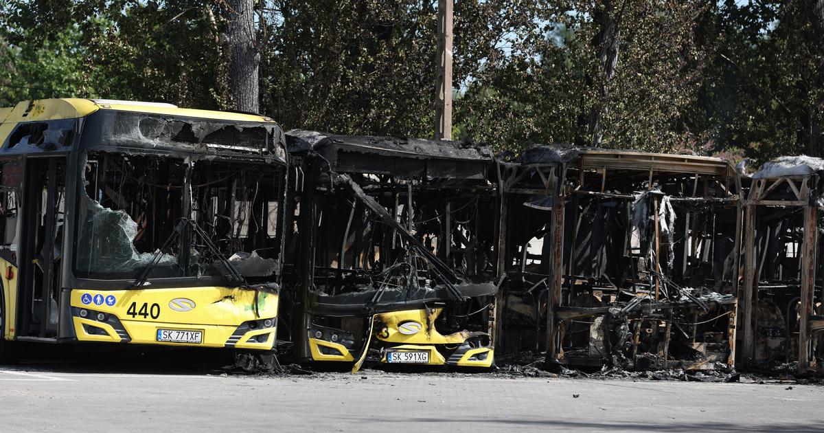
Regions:
[[[621, 12], [623, 12], [623, 7]], [[597, 49], [598, 62], [601, 64], [601, 79], [596, 80], [599, 101], [592, 106], [589, 113], [589, 134], [592, 137], [592, 146], [600, 147], [603, 139], [602, 118], [606, 113], [606, 100], [610, 96], [612, 78], [616, 75], [618, 65], [618, 50], [620, 47], [620, 15], [611, 0], [604, 0], [601, 7], [597, 7], [592, 20], [598, 26], [598, 33], [592, 40]]]

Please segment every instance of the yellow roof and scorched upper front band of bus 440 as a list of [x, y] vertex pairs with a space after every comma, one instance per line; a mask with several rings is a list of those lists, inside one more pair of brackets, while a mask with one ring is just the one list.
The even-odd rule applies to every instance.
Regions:
[[285, 164], [283, 129], [262, 115], [89, 99], [22, 101], [0, 109], [0, 153], [102, 150]]

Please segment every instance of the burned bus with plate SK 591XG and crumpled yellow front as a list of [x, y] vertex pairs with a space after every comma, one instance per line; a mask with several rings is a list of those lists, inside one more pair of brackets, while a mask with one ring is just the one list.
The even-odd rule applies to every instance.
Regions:
[[500, 284], [489, 149], [307, 130], [287, 142], [294, 289], [281, 302], [297, 358], [489, 367]]

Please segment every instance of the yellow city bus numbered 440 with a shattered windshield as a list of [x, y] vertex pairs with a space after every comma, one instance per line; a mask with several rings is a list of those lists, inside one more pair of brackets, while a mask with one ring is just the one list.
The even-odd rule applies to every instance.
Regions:
[[87, 99], [0, 109], [0, 360], [16, 341], [271, 350], [273, 120]]

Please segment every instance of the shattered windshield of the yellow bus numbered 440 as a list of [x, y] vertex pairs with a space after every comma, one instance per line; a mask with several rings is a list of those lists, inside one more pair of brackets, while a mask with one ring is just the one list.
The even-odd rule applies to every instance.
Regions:
[[278, 271], [279, 167], [101, 152], [78, 168], [78, 277], [225, 279], [227, 262], [247, 280]]

